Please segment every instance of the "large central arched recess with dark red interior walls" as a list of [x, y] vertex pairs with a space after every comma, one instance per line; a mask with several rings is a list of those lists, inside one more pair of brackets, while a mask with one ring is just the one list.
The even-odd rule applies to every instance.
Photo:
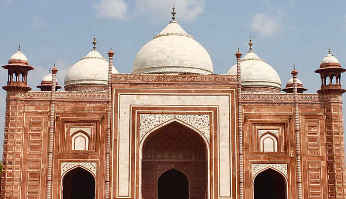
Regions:
[[165, 190], [169, 186], [166, 176], [175, 173], [172, 177], [177, 177], [176, 186], [182, 186], [184, 178], [188, 179], [187, 185], [174, 193], [184, 197], [175, 198], [207, 199], [207, 154], [202, 137], [179, 122], [173, 121], [152, 132], [142, 147], [142, 198], [171, 199], [165, 198], [171, 193]]

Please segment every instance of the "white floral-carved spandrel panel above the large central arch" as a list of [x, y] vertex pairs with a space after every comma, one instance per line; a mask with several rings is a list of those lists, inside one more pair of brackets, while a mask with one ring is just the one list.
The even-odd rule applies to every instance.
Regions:
[[209, 114], [140, 114], [139, 116], [139, 140], [154, 127], [171, 119], [178, 119], [198, 129], [210, 140], [210, 115]]

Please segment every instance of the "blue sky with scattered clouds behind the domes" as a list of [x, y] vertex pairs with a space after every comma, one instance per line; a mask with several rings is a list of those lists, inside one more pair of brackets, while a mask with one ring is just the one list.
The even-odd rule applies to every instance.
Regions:
[[[20, 44], [35, 67], [28, 76], [33, 90], [54, 61], [63, 85], [67, 70], [92, 49], [96, 35], [97, 50], [106, 57], [112, 46], [114, 66], [130, 73], [138, 50], [171, 20], [173, 3], [176, 20], [208, 50], [216, 74], [235, 63], [237, 47], [247, 52], [250, 36], [253, 50], [275, 68], [282, 87], [295, 63], [306, 93], [316, 93], [320, 78], [313, 71], [329, 45], [346, 64], [345, 0], [0, 0], [0, 65]], [[5, 85], [6, 70], [0, 69], [0, 77]], [[342, 85], [346, 88], [343, 78]], [[4, 99], [1, 90], [0, 129]], [[1, 155], [2, 142], [0, 133]]]

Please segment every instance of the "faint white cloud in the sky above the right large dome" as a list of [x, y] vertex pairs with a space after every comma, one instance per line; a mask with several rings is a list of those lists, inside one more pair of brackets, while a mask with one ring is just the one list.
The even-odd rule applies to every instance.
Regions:
[[251, 28], [263, 36], [275, 35], [282, 30], [283, 14], [257, 13], [251, 21]]

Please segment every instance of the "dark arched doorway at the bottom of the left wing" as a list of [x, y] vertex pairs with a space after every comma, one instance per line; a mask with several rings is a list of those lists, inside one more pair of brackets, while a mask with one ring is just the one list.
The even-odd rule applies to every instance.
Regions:
[[95, 199], [95, 179], [81, 167], [69, 171], [62, 183], [63, 199]]

